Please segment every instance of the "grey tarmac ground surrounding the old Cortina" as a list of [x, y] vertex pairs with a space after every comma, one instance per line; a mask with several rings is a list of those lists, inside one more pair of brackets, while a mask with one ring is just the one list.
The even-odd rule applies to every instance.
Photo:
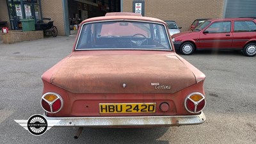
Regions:
[[241, 52], [199, 51], [182, 56], [204, 72], [206, 122], [144, 129], [52, 127], [33, 136], [14, 120], [42, 114], [40, 76], [72, 51], [74, 36], [0, 42], [0, 143], [256, 143], [256, 63]]

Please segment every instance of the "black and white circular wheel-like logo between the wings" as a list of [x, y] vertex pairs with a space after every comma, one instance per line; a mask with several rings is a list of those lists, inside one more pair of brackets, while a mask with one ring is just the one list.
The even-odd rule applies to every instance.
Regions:
[[47, 120], [42, 115], [33, 115], [28, 119], [28, 131], [35, 135], [40, 136], [47, 130]]

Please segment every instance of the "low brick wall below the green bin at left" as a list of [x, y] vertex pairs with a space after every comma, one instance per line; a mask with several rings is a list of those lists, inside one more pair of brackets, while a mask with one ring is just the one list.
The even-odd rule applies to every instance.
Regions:
[[43, 31], [9, 31], [9, 33], [1, 33], [1, 35], [4, 44], [44, 38]]

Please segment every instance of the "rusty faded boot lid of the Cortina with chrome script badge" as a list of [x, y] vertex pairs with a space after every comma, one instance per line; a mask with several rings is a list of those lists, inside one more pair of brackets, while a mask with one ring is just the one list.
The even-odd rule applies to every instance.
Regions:
[[57, 69], [51, 83], [72, 93], [175, 93], [196, 83], [170, 54], [70, 56]]

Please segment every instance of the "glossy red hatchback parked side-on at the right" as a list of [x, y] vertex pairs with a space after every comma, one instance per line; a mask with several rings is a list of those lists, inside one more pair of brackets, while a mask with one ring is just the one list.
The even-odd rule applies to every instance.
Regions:
[[256, 55], [256, 20], [250, 18], [209, 19], [196, 27], [172, 36], [177, 51], [192, 54], [200, 49], [243, 51]]

